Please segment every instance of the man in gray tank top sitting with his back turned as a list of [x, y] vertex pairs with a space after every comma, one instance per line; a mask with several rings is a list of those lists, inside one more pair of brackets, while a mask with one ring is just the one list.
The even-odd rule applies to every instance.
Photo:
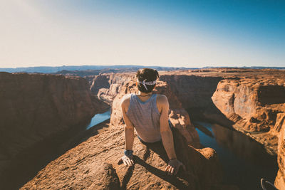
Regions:
[[137, 72], [138, 94], [125, 95], [121, 102], [125, 121], [125, 152], [119, 162], [132, 166], [134, 128], [144, 144], [162, 141], [170, 161], [165, 168], [168, 174], [177, 174], [185, 166], [177, 160], [172, 130], [168, 123], [169, 103], [165, 95], [152, 94], [159, 75], [157, 70], [144, 68]]

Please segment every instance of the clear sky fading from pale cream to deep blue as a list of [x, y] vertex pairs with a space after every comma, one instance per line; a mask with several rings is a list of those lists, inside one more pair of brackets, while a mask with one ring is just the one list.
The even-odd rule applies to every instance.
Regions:
[[285, 1], [0, 3], [1, 68], [285, 66]]

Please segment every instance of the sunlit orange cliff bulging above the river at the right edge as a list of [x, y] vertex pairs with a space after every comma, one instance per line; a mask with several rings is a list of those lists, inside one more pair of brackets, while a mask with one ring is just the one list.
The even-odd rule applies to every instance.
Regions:
[[269, 153], [276, 154], [279, 127], [274, 125], [277, 115], [285, 112], [285, 86], [281, 80], [264, 79], [257, 83], [252, 79], [225, 79], [219, 82], [212, 100], [233, 122], [234, 129], [264, 144]]

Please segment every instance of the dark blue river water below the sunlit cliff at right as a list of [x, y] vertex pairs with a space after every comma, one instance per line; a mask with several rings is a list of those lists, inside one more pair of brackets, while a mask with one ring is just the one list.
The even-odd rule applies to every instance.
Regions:
[[209, 137], [196, 129], [201, 144], [216, 150], [224, 171], [224, 184], [235, 184], [240, 189], [261, 189], [261, 178], [274, 183], [278, 169], [276, 157], [267, 154], [261, 144], [220, 125], [196, 123], [207, 128], [214, 136]]

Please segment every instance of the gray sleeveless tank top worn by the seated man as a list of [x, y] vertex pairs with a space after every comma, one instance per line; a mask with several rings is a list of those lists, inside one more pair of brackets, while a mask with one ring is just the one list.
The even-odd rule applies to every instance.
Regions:
[[128, 118], [133, 123], [140, 139], [144, 142], [160, 141], [160, 112], [156, 106], [156, 94], [142, 102], [135, 94], [130, 94]]

